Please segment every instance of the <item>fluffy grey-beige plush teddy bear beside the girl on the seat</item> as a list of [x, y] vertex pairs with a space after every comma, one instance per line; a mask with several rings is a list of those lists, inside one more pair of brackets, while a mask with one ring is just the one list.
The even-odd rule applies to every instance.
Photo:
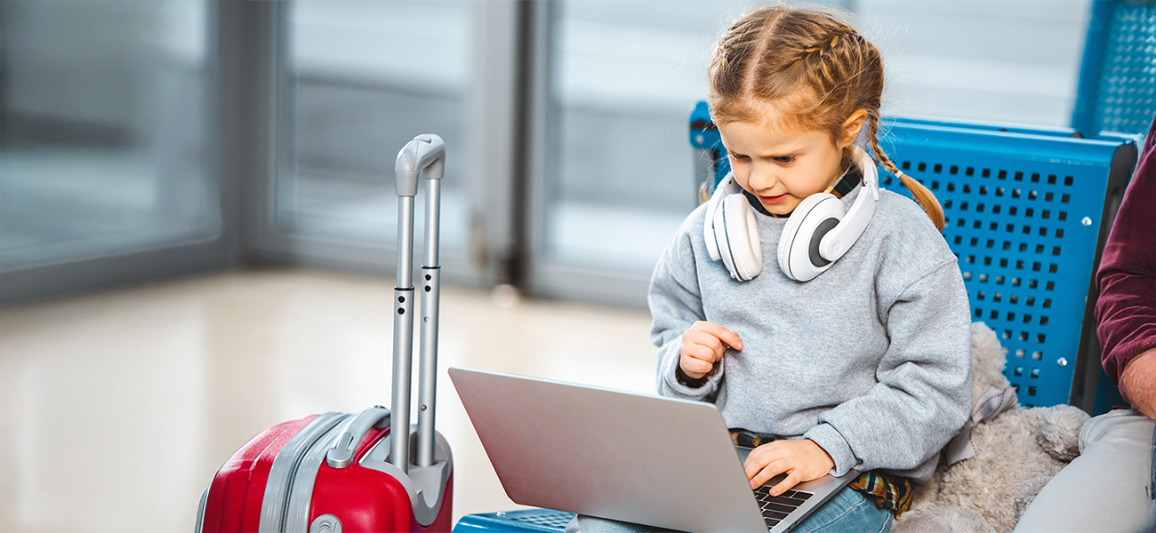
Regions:
[[983, 322], [971, 328], [971, 360], [972, 421], [931, 481], [916, 488], [895, 533], [1011, 532], [1044, 485], [1080, 455], [1088, 414], [1069, 405], [1016, 404], [1003, 376], [1007, 350]]

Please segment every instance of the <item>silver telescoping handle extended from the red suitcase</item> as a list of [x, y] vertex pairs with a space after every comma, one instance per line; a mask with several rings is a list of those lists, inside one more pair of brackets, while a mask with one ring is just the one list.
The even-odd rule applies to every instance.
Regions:
[[437, 395], [437, 321], [440, 266], [438, 218], [445, 143], [432, 134], [409, 141], [394, 162], [398, 175], [398, 286], [393, 290], [393, 406], [390, 463], [409, 472], [409, 390], [414, 353], [414, 196], [425, 171], [425, 261], [422, 264], [422, 352], [418, 369], [417, 465], [433, 464], [433, 406]]

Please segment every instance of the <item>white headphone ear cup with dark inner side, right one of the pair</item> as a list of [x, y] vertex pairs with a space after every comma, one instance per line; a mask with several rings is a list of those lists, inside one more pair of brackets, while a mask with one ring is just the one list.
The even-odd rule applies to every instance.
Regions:
[[791, 213], [783, 235], [779, 238], [779, 269], [796, 281], [809, 281], [831, 266], [831, 262], [818, 254], [818, 243], [831, 231], [846, 208], [829, 193], [817, 193], [803, 198]]

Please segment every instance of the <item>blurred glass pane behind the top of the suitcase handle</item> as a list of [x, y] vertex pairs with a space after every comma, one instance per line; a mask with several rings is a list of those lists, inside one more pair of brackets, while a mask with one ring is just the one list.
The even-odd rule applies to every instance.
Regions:
[[394, 158], [414, 136], [432, 133], [446, 143], [442, 246], [465, 248], [470, 22], [467, 0], [292, 2], [284, 90], [294, 119], [281, 125], [292, 142], [277, 182], [282, 228], [392, 242]]

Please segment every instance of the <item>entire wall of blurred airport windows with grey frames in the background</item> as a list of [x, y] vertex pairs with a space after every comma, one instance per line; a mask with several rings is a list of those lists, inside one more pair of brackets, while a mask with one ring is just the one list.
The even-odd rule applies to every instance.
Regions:
[[[850, 10], [882, 51], [884, 114], [1069, 122], [1090, 0], [822, 3]], [[687, 140], [689, 111], [705, 97], [714, 40], [749, 2], [246, 6], [253, 8], [205, 0], [3, 2], [0, 276], [218, 243], [223, 234], [238, 235], [239, 255], [388, 272], [383, 252], [392, 252], [395, 238], [394, 156], [414, 135], [436, 133], [450, 150], [443, 256], [460, 261], [447, 273], [489, 268], [466, 283], [511, 278], [547, 296], [645, 305], [658, 255], [696, 205], [702, 156]], [[269, 24], [253, 27], [258, 21]], [[252, 72], [221, 76], [217, 58], [252, 45], [222, 40], [222, 22], [234, 24], [225, 35], [245, 28], [274, 52], [253, 52], [260, 58]], [[479, 53], [506, 37], [525, 47]], [[487, 76], [510, 73], [509, 88], [479, 89]], [[229, 76], [240, 80], [230, 85]], [[257, 142], [246, 140], [236, 155], [244, 159], [237, 165], [257, 170], [250, 173], [224, 170], [218, 153], [229, 135], [242, 134], [217, 123], [237, 97], [220, 89], [245, 83], [262, 87], [254, 93], [268, 85], [246, 106], [271, 107], [223, 120], [225, 128], [255, 132]], [[524, 98], [495, 106], [495, 93]], [[229, 107], [238, 108], [249, 111]], [[489, 135], [474, 126], [486, 113], [483, 123], [497, 118], [521, 129], [476, 149]], [[246, 122], [261, 120], [268, 123]], [[514, 151], [512, 166], [491, 165], [495, 150]], [[999, 171], [1005, 178], [1029, 182]], [[230, 187], [250, 196], [242, 202]], [[1022, 190], [992, 192], [1007, 198]], [[1067, 196], [1042, 200], [1062, 204]], [[244, 211], [231, 216], [231, 209]], [[1038, 212], [1067, 217], [1054, 208]], [[494, 266], [495, 242], [521, 263]], [[480, 266], [487, 257], [489, 266]], [[509, 272], [516, 264], [524, 266], [517, 276]]]

